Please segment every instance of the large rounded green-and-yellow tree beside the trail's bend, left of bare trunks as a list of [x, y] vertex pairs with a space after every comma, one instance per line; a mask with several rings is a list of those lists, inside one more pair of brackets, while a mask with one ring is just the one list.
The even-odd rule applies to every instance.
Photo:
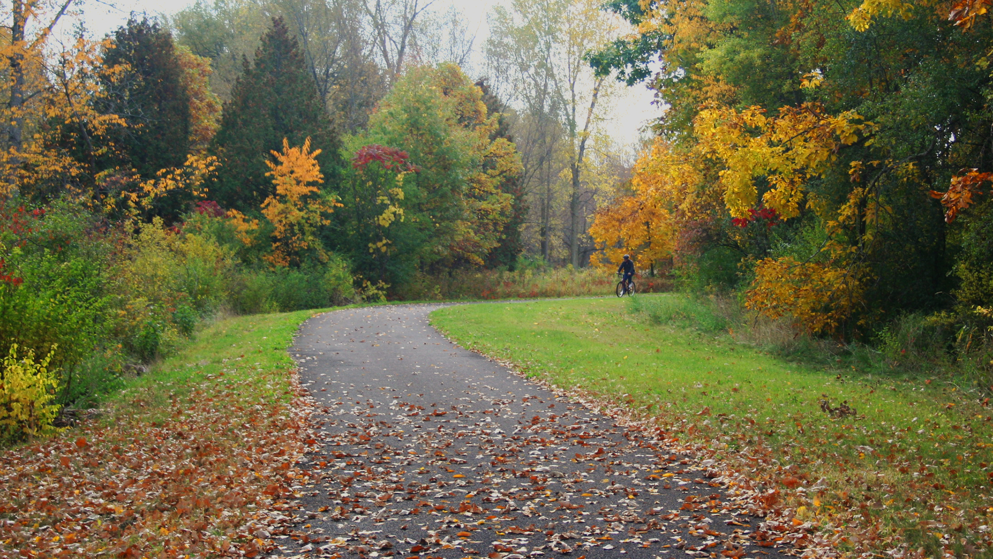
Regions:
[[[413, 68], [397, 82], [355, 138], [366, 148], [355, 145], [355, 175], [342, 195], [363, 275], [395, 282], [485, 263], [512, 215], [501, 185], [520, 170], [498, 126], [483, 91], [455, 65]], [[416, 171], [395, 180], [408, 164]]]

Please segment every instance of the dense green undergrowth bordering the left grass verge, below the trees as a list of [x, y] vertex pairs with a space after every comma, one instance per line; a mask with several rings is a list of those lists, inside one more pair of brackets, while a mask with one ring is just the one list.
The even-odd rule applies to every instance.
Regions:
[[[173, 354], [218, 312], [290, 311], [361, 298], [336, 261], [313, 269], [246, 263], [225, 243], [217, 221], [194, 212], [182, 227], [158, 219], [111, 225], [68, 201], [37, 209], [4, 204], [0, 340], [18, 347], [18, 361], [32, 353], [37, 361], [49, 359], [56, 383], [45, 392], [55, 392], [58, 407], [82, 409]], [[9, 368], [4, 365], [5, 375]], [[28, 427], [42, 408], [23, 397], [43, 382], [33, 378], [0, 390], [0, 443], [46, 431]]]

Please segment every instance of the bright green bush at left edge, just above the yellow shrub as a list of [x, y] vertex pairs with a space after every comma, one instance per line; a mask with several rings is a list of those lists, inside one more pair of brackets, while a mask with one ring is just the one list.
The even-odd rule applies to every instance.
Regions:
[[58, 346], [48, 368], [59, 379], [59, 404], [116, 386], [110, 239], [68, 201], [0, 206], [0, 350], [48, 355]]

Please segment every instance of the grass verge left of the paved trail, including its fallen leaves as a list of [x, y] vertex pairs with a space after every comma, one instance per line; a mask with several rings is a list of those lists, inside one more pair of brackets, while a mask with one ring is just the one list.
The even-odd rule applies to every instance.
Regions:
[[[0, 557], [247, 556], [285, 531], [306, 422], [287, 353], [314, 311], [218, 320], [102, 417], [0, 455]], [[282, 513], [288, 514], [288, 513]]]

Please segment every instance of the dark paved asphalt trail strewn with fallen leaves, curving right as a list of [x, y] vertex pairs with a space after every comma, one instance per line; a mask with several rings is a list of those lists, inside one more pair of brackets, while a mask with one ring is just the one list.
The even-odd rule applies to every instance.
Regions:
[[449, 342], [428, 324], [441, 306], [303, 325], [291, 351], [324, 448], [275, 556], [781, 557], [706, 462]]

